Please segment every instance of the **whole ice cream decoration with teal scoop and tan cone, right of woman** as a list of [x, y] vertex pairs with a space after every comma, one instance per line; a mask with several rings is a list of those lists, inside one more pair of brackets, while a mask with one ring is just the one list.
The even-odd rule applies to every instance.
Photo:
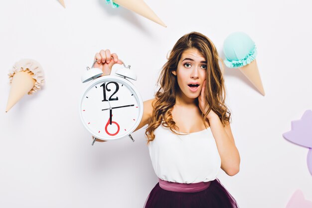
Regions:
[[260, 93], [265, 95], [256, 62], [255, 42], [243, 32], [234, 32], [224, 40], [223, 51], [225, 65], [229, 68], [239, 68]]

